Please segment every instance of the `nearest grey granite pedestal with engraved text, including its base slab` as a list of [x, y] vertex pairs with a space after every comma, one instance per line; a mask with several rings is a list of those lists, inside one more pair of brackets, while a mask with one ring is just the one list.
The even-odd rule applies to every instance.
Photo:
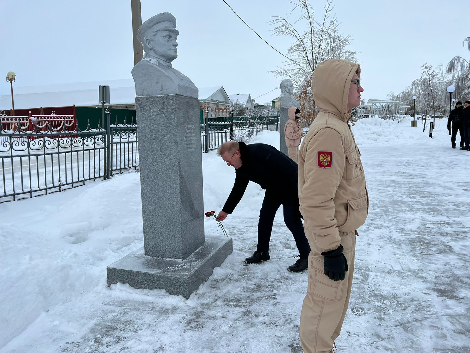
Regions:
[[108, 286], [188, 298], [232, 253], [232, 238], [204, 238], [199, 101], [164, 95], [135, 103], [144, 247], [108, 266]]

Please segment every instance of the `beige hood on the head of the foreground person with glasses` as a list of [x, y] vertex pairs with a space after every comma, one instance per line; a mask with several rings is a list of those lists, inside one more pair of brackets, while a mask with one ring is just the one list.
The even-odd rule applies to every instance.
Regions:
[[360, 65], [351, 61], [329, 59], [318, 64], [312, 75], [312, 94], [321, 112], [334, 114], [344, 121], [351, 118], [348, 97], [354, 73], [360, 78]]

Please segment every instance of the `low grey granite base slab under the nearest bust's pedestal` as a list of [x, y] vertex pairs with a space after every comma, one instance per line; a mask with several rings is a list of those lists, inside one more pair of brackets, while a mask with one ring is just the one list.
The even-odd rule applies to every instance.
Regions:
[[188, 299], [231, 253], [232, 238], [225, 237], [206, 237], [184, 260], [146, 256], [142, 247], [107, 267], [108, 287], [128, 283], [137, 289], [165, 289]]

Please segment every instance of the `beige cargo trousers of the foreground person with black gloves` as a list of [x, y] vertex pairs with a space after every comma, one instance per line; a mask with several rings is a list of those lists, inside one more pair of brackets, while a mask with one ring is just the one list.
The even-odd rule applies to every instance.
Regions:
[[[308, 262], [308, 294], [300, 314], [300, 345], [305, 353], [329, 353], [339, 336], [351, 295], [356, 232], [343, 233], [341, 244], [349, 270], [344, 281], [333, 281], [323, 272], [323, 256], [313, 236]], [[313, 241], [312, 241], [313, 240]]]

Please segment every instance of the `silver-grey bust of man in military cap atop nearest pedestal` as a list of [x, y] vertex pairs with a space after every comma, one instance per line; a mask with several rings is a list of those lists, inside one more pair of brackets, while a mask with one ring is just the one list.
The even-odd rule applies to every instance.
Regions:
[[137, 96], [181, 95], [198, 98], [194, 83], [173, 69], [176, 59], [176, 18], [169, 12], [150, 17], [137, 31], [144, 56], [132, 69]]

